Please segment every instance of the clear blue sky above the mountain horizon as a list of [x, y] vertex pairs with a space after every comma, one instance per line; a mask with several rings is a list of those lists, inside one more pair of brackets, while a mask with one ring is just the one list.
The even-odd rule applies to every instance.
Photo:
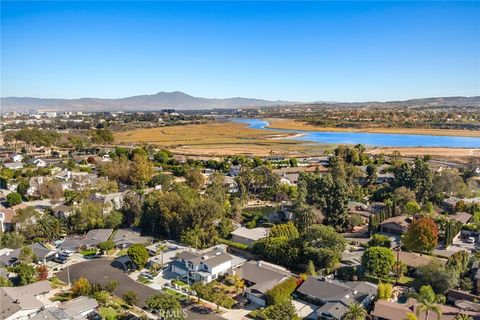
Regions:
[[480, 95], [479, 2], [2, 1], [1, 95]]

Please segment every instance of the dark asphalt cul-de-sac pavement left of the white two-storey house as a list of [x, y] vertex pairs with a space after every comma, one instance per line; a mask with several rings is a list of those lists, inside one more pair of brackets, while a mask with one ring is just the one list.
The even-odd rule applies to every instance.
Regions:
[[[158, 293], [146, 285], [141, 284], [128, 277], [122, 269], [112, 266], [112, 260], [93, 259], [69, 266], [70, 281], [73, 282], [81, 277], [87, 278], [90, 283], [98, 283], [105, 286], [107, 282], [118, 281], [118, 286], [114, 294], [122, 297], [127, 291], [133, 291], [137, 294], [137, 305], [142, 308], [145, 300]], [[63, 269], [58, 273], [60, 280], [67, 282], [67, 270]]]

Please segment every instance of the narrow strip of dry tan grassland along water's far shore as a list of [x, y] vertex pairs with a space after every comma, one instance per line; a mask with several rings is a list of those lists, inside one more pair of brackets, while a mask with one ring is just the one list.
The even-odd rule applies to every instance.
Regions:
[[333, 132], [367, 132], [367, 133], [401, 133], [401, 134], [425, 134], [435, 136], [461, 136], [461, 137], [480, 137], [480, 131], [473, 130], [445, 130], [445, 129], [410, 129], [410, 128], [332, 128], [318, 127], [303, 121], [293, 119], [267, 119], [270, 128], [292, 129], [292, 130], [311, 130], [311, 131], [333, 131]]

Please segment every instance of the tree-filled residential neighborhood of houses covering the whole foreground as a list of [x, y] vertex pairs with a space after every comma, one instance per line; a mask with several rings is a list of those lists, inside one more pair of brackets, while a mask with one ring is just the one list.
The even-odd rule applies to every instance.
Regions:
[[480, 317], [468, 167], [362, 146], [294, 160], [71, 152], [3, 151], [22, 167], [0, 175], [2, 319], [155, 318], [166, 301], [192, 319], [424, 319], [427, 304]]

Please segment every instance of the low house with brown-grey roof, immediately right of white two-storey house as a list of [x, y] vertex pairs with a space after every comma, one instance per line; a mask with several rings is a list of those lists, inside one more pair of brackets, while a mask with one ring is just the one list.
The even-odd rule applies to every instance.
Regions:
[[265, 307], [265, 293], [276, 284], [285, 281], [292, 274], [285, 268], [264, 261], [248, 261], [231, 272], [245, 281], [248, 300]]

